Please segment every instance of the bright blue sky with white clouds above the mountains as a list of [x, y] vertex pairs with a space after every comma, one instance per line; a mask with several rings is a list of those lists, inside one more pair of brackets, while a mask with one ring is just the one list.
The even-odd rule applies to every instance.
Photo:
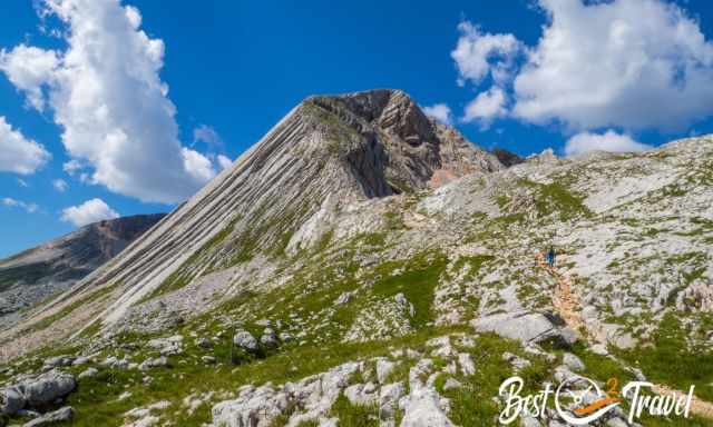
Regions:
[[[424, 107], [448, 106], [443, 119], [475, 143], [520, 155], [713, 131], [713, 98], [700, 89], [713, 88], [707, 1], [87, 1], [3, 4], [0, 149], [31, 150], [4, 166], [0, 156], [0, 256], [89, 220], [170, 210], [221, 156], [237, 157], [313, 93], [403, 89]], [[97, 17], [107, 23], [99, 48], [82, 31]], [[128, 39], [111, 26], [127, 19]], [[51, 70], [30, 57], [51, 59]], [[674, 78], [660, 79], [662, 69]], [[62, 99], [95, 86], [86, 106]], [[97, 106], [106, 111], [87, 123]]]

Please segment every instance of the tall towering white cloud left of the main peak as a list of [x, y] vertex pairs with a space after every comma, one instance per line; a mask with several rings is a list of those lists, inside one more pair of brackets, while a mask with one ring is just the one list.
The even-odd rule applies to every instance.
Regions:
[[[67, 26], [67, 49], [21, 44], [3, 51], [1, 68], [30, 105], [48, 102], [78, 161], [71, 165], [89, 169], [85, 179], [159, 202], [183, 200], [211, 179], [207, 158], [178, 140], [176, 108], [159, 78], [164, 43], [140, 29], [139, 11], [119, 0], [45, 0], [42, 8]], [[19, 64], [32, 77], [19, 79]]]

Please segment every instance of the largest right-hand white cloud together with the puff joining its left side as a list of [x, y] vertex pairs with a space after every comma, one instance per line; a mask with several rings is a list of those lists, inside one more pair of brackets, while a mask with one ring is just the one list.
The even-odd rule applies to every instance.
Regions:
[[713, 115], [713, 43], [678, 6], [538, 3], [548, 21], [533, 47], [511, 34], [482, 34], [469, 22], [459, 26], [451, 52], [459, 83], [479, 85], [491, 73], [514, 101], [508, 116], [568, 131], [678, 130]]

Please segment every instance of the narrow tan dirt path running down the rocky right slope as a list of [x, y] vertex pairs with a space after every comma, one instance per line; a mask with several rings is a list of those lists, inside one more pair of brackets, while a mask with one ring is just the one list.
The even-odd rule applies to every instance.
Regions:
[[[606, 344], [606, 339], [600, 337], [597, 331], [588, 330], [582, 319], [579, 297], [572, 291], [572, 280], [569, 277], [560, 274], [555, 267], [550, 267], [545, 262], [545, 256], [543, 254], [537, 254], [536, 260], [538, 267], [549, 271], [549, 274], [557, 280], [555, 295], [553, 295], [553, 307], [557, 310], [559, 316], [561, 316], [567, 326], [576, 331], [587, 331], [587, 334], [593, 334], [592, 338], [594, 338], [595, 341]], [[654, 385], [653, 391], [660, 396], [668, 396], [672, 394], [676, 394], [677, 396], [686, 395], [686, 393], [674, 390], [660, 384]], [[691, 400], [691, 414], [713, 419], [713, 404], [701, 400], [694, 395]]]

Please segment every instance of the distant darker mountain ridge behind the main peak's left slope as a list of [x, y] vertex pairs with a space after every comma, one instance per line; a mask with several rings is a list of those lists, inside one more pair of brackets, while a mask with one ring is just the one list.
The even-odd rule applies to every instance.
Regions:
[[164, 216], [138, 215], [91, 224], [0, 260], [0, 317], [67, 289], [119, 254]]

